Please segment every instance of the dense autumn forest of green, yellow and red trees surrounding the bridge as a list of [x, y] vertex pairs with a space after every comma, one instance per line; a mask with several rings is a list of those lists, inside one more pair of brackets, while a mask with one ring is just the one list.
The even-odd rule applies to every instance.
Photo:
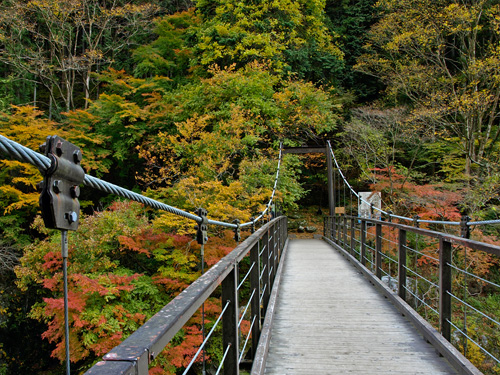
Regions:
[[[0, 133], [34, 150], [57, 134], [82, 149], [88, 174], [187, 211], [204, 207], [216, 220], [248, 221], [270, 197], [281, 142], [331, 140], [351, 184], [381, 191], [384, 209], [499, 218], [498, 1], [2, 0], [0, 8]], [[60, 234], [39, 216], [39, 171], [0, 165], [0, 374], [60, 374]], [[324, 161], [287, 154], [277, 197], [291, 212], [325, 184]], [[192, 222], [83, 188], [80, 201], [69, 264], [75, 373], [201, 272]], [[234, 247], [231, 233], [210, 231], [207, 266]], [[472, 235], [497, 243], [499, 234]], [[496, 259], [475, 262], [500, 280]], [[498, 297], [482, 303], [500, 309]], [[151, 373], [177, 373], [200, 338], [195, 316]]]

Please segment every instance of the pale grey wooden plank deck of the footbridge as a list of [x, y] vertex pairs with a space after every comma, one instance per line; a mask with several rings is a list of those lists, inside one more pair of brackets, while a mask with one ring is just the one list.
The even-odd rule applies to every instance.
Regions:
[[290, 241], [275, 314], [266, 374], [457, 373], [321, 240]]

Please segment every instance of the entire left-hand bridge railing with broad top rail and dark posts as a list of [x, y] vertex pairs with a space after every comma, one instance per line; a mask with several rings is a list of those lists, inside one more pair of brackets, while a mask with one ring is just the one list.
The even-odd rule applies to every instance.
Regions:
[[[253, 358], [256, 353], [262, 318], [267, 309], [270, 290], [286, 240], [286, 217], [281, 216], [265, 224], [182, 291], [136, 332], [107, 353], [101, 362], [86, 372], [86, 375], [147, 374], [149, 364], [219, 285], [222, 287], [223, 310], [217, 324], [219, 322], [222, 324], [224, 356], [217, 373], [222, 369], [222, 373], [226, 375], [239, 374], [239, 365], [245, 355]], [[248, 271], [240, 275], [240, 263], [247, 256], [250, 258]], [[240, 312], [242, 290], [245, 289], [248, 293], [248, 287], [250, 297]], [[247, 316], [251, 325], [243, 341], [241, 323]], [[197, 359], [215, 327], [214, 324], [214, 328], [207, 335], [191, 363]], [[249, 352], [247, 352], [248, 345], [251, 347]], [[186, 368], [186, 372], [190, 366]]]

